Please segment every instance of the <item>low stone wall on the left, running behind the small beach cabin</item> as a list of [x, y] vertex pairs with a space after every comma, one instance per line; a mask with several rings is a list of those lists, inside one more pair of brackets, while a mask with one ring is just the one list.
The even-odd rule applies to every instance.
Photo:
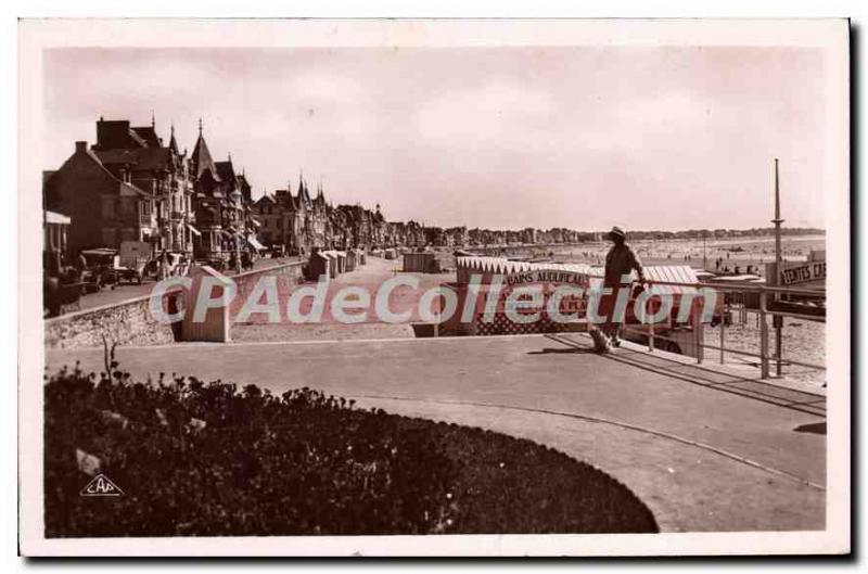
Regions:
[[[263, 276], [277, 276], [278, 284], [288, 289], [302, 281], [302, 263], [292, 262], [231, 277], [238, 285], [238, 295], [230, 308], [232, 318]], [[169, 296], [164, 298], [164, 305]], [[46, 320], [44, 327], [46, 348], [101, 347], [103, 336], [118, 346], [164, 345], [176, 341], [173, 326], [161, 323], [151, 315], [150, 296], [54, 317]]]

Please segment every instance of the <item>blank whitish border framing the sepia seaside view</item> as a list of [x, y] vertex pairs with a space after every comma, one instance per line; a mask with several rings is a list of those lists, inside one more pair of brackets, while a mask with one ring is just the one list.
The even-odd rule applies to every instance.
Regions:
[[[161, 34], [154, 34], [155, 26]], [[167, 38], [170, 40], [167, 42]], [[825, 51], [828, 489], [825, 532], [46, 539], [42, 533], [41, 50], [51, 47], [812, 46]], [[850, 548], [850, 93], [845, 20], [43, 20], [20, 23], [20, 539], [26, 556], [659, 556]], [[839, 294], [834, 296], [834, 294]], [[846, 296], [844, 296], [846, 294]]]

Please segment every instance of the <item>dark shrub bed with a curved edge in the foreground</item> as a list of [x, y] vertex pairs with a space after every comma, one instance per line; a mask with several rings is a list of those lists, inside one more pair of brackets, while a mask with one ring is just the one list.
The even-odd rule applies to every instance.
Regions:
[[[529, 441], [310, 388], [130, 379], [47, 382], [46, 536], [656, 532], [624, 485]], [[123, 495], [81, 496], [98, 473]]]

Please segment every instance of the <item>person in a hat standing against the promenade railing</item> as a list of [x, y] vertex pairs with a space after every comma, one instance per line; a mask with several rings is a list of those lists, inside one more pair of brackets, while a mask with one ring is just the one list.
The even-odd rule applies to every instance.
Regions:
[[624, 320], [624, 315], [626, 315], [626, 309], [618, 314], [621, 317], [616, 317], [615, 302], [617, 301], [618, 290], [622, 288], [629, 289], [629, 282], [627, 284], [622, 283], [623, 277], [629, 276], [635, 270], [639, 284], [644, 283], [642, 263], [630, 246], [627, 245], [627, 234], [624, 230], [615, 226], [607, 234], [607, 239], [614, 245], [605, 254], [603, 295], [600, 297], [598, 310], [598, 315], [603, 318], [603, 322], [600, 329], [591, 328], [590, 331], [595, 347], [600, 353], [608, 352], [611, 345], [621, 346], [621, 323]]

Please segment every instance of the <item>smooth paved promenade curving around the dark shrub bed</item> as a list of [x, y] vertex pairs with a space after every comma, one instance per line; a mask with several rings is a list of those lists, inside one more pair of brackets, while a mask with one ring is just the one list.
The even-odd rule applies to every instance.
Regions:
[[[361, 407], [525, 437], [612, 474], [664, 532], [821, 530], [825, 398], [585, 335], [118, 347], [138, 380], [159, 372], [309, 386]], [[48, 372], [103, 350], [48, 350]], [[509, 463], [509, 461], [506, 461]], [[544, 477], [540, 477], [542, 480]]]

